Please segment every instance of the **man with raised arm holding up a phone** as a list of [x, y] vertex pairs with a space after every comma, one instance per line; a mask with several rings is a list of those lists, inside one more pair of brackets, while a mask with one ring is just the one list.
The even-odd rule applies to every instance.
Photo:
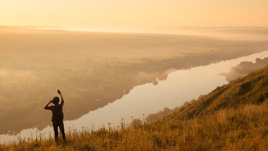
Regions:
[[[58, 94], [61, 97], [61, 102], [59, 104], [59, 98], [54, 97], [53, 100], [50, 100], [45, 106], [44, 109], [51, 110], [52, 111], [52, 122], [53, 122], [53, 129], [55, 133], [55, 141], [58, 142], [58, 127], [61, 132], [61, 136], [63, 140], [65, 141], [65, 133], [64, 133], [64, 125], [63, 125], [63, 112], [62, 107], [64, 104], [61, 92], [58, 90]], [[50, 103], [53, 103], [54, 105], [48, 106]]]

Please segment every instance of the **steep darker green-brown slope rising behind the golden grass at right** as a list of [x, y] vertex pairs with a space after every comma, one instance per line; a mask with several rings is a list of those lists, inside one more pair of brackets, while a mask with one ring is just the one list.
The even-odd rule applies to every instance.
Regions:
[[225, 108], [237, 108], [245, 104], [260, 104], [267, 97], [268, 66], [253, 71], [242, 79], [218, 87], [189, 107], [181, 109], [176, 116], [192, 118], [200, 114], [213, 114], [215, 111]]

